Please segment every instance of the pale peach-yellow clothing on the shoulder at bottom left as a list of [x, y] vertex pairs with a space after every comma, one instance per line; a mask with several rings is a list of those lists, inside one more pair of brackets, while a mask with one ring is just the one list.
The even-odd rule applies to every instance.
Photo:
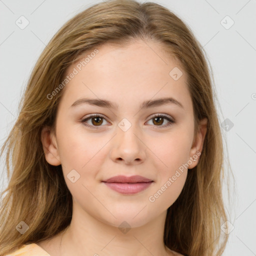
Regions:
[[49, 256], [49, 254], [36, 243], [30, 243], [23, 244], [19, 249], [5, 256]]

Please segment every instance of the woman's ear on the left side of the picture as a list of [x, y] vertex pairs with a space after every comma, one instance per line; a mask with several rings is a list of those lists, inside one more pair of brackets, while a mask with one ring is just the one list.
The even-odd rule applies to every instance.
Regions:
[[41, 142], [46, 161], [51, 165], [59, 165], [60, 158], [57, 148], [56, 136], [50, 127], [45, 126], [41, 130]]

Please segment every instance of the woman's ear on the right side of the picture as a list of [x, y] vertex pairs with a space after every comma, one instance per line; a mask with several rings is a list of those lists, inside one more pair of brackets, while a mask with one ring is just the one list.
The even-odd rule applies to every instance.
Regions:
[[195, 167], [199, 161], [199, 155], [201, 154], [204, 137], [207, 132], [207, 123], [208, 123], [208, 120], [206, 117], [199, 121], [198, 131], [195, 134], [195, 137], [190, 149], [190, 153], [189, 153], [190, 157], [189, 157], [188, 163], [189, 162], [192, 162], [192, 163], [189, 164], [188, 169], [192, 169], [193, 167]]

